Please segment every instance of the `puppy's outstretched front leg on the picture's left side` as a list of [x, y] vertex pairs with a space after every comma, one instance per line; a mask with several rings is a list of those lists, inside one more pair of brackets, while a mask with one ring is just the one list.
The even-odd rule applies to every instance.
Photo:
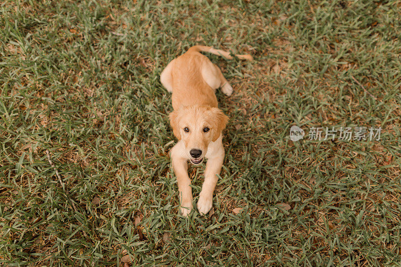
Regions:
[[177, 177], [181, 213], [183, 216], [187, 216], [192, 209], [192, 188], [190, 187], [191, 180], [188, 176], [187, 159], [177, 155], [171, 155], [171, 158], [172, 167]]

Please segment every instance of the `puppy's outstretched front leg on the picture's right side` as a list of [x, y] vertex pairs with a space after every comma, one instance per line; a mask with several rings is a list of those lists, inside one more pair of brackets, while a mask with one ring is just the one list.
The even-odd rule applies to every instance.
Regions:
[[206, 163], [205, 181], [196, 204], [200, 214], [207, 214], [213, 205], [213, 192], [215, 191], [217, 180], [219, 179], [217, 174], [219, 174], [222, 169], [225, 154], [221, 140], [220, 138], [220, 144], [216, 149], [217, 151], [213, 153], [212, 157], [209, 157], [208, 163]]

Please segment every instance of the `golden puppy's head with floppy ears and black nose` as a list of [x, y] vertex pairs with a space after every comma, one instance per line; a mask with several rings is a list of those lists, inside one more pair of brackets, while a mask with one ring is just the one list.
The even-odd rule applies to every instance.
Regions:
[[218, 108], [182, 107], [170, 113], [175, 137], [184, 142], [185, 154], [192, 164], [203, 161], [210, 142], [215, 142], [226, 127], [228, 117]]

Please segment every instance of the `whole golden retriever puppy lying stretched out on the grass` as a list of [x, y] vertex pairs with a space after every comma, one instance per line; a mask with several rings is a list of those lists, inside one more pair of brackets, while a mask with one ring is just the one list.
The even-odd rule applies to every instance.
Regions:
[[[222, 131], [228, 121], [228, 117], [218, 108], [215, 90], [221, 88], [228, 96], [233, 93], [233, 88], [223, 77], [219, 67], [199, 52], [209, 52], [232, 59], [226, 51], [194, 46], [172, 60], [160, 74], [161, 84], [168, 92], [172, 92], [174, 111], [169, 117], [178, 142], [171, 149], [170, 157], [177, 177], [180, 210], [184, 216], [192, 209], [188, 160], [197, 165], [205, 158], [208, 159], [197, 209], [200, 214], [206, 214], [212, 208], [217, 174], [220, 173], [225, 154]], [[236, 56], [252, 60], [250, 55]]]

